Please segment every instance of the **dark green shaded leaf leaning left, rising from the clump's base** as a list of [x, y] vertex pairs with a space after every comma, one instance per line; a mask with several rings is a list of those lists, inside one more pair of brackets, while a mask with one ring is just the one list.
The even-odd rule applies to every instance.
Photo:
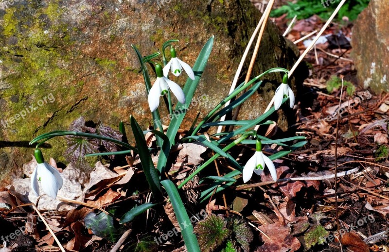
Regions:
[[153, 160], [151, 159], [151, 154], [147, 147], [146, 140], [144, 139], [143, 132], [133, 116], [130, 116], [130, 122], [135, 142], [137, 143], [137, 148], [139, 150], [139, 158], [141, 159], [144, 175], [150, 185], [153, 196], [159, 198], [161, 196], [159, 176], [157, 169], [154, 167]]

